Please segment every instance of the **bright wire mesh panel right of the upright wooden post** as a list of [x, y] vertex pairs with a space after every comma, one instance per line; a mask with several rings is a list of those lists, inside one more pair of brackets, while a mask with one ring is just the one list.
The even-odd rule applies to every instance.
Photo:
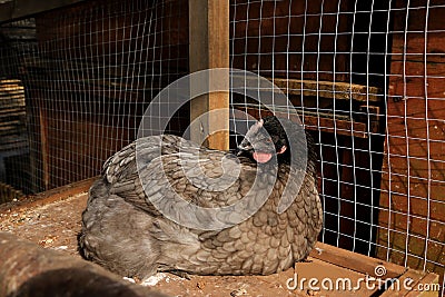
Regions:
[[[230, 7], [230, 67], [274, 80], [317, 139], [322, 241], [441, 275], [444, 6], [234, 0]], [[267, 113], [236, 96], [231, 107]], [[275, 108], [286, 117], [291, 107]]]

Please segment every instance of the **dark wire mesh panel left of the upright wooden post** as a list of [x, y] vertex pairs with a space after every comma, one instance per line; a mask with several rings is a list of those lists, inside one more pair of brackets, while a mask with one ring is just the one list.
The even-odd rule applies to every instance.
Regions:
[[[98, 0], [44, 12], [36, 17], [32, 43], [13, 40], [20, 22], [0, 29], [10, 66], [0, 76], [20, 79], [27, 95], [26, 192], [98, 175], [136, 138], [150, 100], [188, 72], [187, 1]], [[178, 133], [188, 111], [175, 117], [168, 132]]]

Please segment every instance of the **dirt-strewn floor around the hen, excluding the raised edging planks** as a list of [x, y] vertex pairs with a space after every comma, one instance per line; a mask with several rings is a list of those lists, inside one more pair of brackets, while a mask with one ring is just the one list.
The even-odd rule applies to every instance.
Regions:
[[[2, 206], [0, 230], [13, 232], [46, 248], [80, 257], [77, 253], [77, 234], [80, 230], [80, 216], [86, 201], [87, 194], [78, 194], [62, 200]], [[363, 277], [356, 271], [315, 258], [310, 258], [309, 263], [297, 264], [295, 271], [298, 271], [298, 279]], [[152, 286], [171, 296], [369, 296], [372, 294], [369, 290], [334, 293], [294, 289], [295, 281], [290, 281], [289, 278], [294, 278], [295, 271], [291, 268], [271, 276], [190, 276], [190, 279], [171, 274], [158, 274], [142, 285]]]

